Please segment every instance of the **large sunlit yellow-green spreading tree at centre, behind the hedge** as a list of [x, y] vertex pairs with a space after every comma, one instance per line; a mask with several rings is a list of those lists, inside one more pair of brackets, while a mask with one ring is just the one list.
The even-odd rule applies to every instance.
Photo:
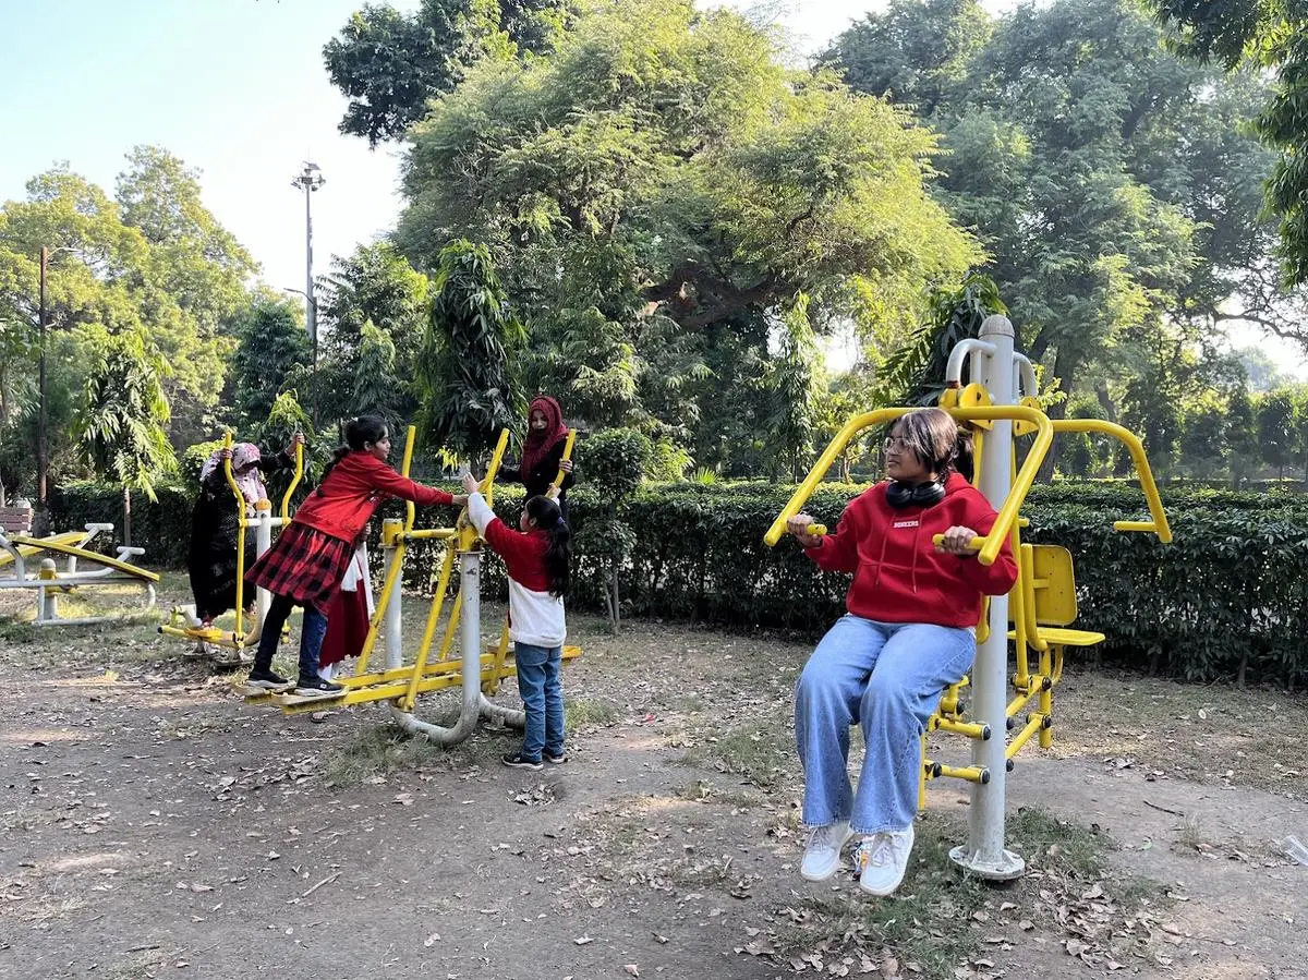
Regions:
[[527, 378], [570, 413], [715, 441], [709, 359], [761, 368], [797, 294], [819, 335], [889, 328], [980, 260], [927, 195], [933, 135], [783, 58], [731, 10], [616, 0], [530, 64], [481, 61], [411, 130], [396, 241], [420, 268], [487, 242]]

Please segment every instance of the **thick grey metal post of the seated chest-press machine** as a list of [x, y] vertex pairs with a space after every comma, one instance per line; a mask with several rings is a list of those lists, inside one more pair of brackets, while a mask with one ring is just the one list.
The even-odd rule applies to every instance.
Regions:
[[[981, 340], [989, 341], [993, 353], [977, 356], [982, 368], [981, 382], [990, 390], [994, 404], [1014, 403], [1014, 331], [1006, 317], [986, 317]], [[1010, 455], [1012, 423], [995, 420], [988, 433], [981, 455], [981, 492], [998, 510], [1012, 487]], [[1008, 597], [990, 599], [990, 635], [977, 648], [972, 669], [972, 710], [969, 721], [989, 725], [988, 739], [972, 742], [972, 761], [989, 775], [986, 782], [972, 784], [972, 806], [968, 813], [968, 843], [954, 848], [950, 857], [973, 874], [990, 881], [1019, 878], [1025, 869], [1020, 856], [1003, 847], [1005, 784], [1008, 693]]]

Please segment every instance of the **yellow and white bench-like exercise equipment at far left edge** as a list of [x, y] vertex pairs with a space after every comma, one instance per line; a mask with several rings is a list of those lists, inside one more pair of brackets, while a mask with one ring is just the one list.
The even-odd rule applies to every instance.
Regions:
[[[35, 593], [37, 616], [33, 625], [38, 627], [84, 625], [116, 618], [110, 614], [60, 616], [59, 597], [81, 589], [120, 589], [124, 585], [139, 587], [144, 595], [141, 608], [150, 608], [154, 604], [154, 585], [160, 577], [131, 561], [144, 555], [144, 548], [119, 546], [115, 550], [116, 557], [90, 550], [92, 542], [98, 535], [112, 530], [111, 523], [89, 523], [85, 531], [68, 531], [48, 538], [0, 533], [0, 589], [25, 589]], [[60, 561], [64, 563], [63, 568], [59, 567]]]

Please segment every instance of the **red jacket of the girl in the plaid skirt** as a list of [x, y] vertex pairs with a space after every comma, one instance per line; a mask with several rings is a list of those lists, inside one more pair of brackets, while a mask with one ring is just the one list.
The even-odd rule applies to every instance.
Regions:
[[353, 542], [383, 497], [402, 497], [422, 506], [454, 502], [453, 493], [413, 483], [371, 453], [357, 449], [332, 467], [293, 519], [332, 538]]

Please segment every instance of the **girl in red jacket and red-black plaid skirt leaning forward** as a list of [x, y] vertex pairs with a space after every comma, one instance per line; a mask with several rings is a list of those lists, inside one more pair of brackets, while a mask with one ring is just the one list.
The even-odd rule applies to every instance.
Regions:
[[252, 687], [279, 690], [288, 686], [285, 678], [272, 673], [272, 654], [290, 610], [303, 606], [296, 693], [326, 697], [340, 693], [340, 684], [318, 675], [318, 652], [327, 632], [326, 610], [373, 512], [387, 496], [424, 506], [467, 501], [463, 495], [454, 496], [404, 479], [387, 466], [391, 437], [386, 423], [377, 416], [362, 415], [347, 424], [345, 444], [323, 471], [318, 489], [309, 495], [290, 525], [246, 574], [249, 585], [272, 593], [250, 671]]

